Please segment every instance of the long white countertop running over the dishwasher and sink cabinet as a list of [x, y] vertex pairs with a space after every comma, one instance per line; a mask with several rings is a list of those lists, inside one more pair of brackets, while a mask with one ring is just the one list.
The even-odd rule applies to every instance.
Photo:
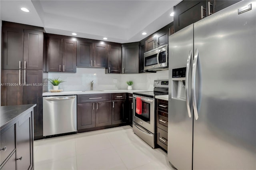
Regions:
[[[43, 96], [61, 96], [61, 95], [90, 95], [90, 94], [103, 94], [103, 93], [134, 93], [139, 91], [148, 90], [104, 90], [104, 91], [62, 91], [62, 92], [45, 92]], [[167, 98], [168, 100], [168, 98]]]

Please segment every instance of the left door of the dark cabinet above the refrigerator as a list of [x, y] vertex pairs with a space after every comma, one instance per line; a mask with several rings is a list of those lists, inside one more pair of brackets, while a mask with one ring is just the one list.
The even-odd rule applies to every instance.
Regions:
[[184, 0], [174, 6], [174, 14], [174, 30], [177, 32], [206, 17], [206, 0]]

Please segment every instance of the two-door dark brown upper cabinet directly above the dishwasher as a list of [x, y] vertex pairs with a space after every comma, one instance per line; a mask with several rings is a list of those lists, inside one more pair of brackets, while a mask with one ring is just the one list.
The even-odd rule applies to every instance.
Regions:
[[76, 73], [76, 41], [47, 38], [46, 71]]

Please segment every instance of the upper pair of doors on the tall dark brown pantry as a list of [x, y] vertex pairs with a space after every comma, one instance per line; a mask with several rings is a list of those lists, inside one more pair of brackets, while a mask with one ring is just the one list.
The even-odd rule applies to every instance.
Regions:
[[2, 69], [43, 69], [43, 32], [2, 28]]

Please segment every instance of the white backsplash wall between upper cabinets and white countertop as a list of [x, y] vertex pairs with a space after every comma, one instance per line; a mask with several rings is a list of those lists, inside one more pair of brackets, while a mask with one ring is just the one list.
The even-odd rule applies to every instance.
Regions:
[[[105, 69], [77, 68], [76, 73], [48, 73], [48, 78], [63, 79], [59, 89], [64, 91], [90, 90], [90, 82], [94, 81], [94, 90], [116, 90], [127, 89], [126, 81], [134, 81], [132, 89], [153, 90], [155, 79], [168, 79], [168, 71], [158, 71], [157, 73], [142, 74], [105, 74]], [[117, 79], [117, 83], [114, 83]], [[48, 87], [52, 89], [52, 87]]]

